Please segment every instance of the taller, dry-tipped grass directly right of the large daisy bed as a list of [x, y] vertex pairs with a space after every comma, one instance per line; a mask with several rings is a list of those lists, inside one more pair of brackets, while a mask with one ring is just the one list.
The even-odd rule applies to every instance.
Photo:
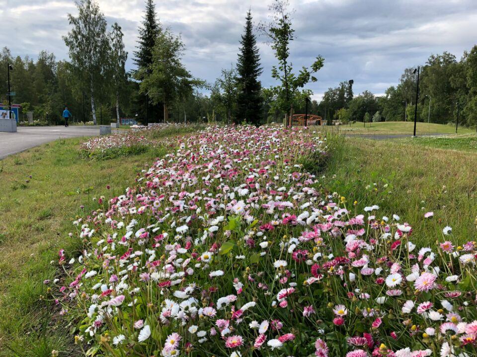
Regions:
[[[324, 186], [360, 207], [377, 204], [397, 214], [417, 238], [433, 244], [442, 227], [464, 242], [476, 234], [477, 157], [459, 150], [423, 148], [405, 141], [330, 137]], [[432, 219], [424, 219], [433, 211]]]

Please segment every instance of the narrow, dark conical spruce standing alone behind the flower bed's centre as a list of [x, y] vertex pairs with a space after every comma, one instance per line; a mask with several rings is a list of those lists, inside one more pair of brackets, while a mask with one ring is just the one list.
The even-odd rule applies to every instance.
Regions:
[[237, 61], [237, 84], [239, 95], [237, 98], [237, 119], [259, 125], [262, 109], [261, 84], [258, 76], [262, 73], [260, 55], [253, 34], [252, 15], [247, 12], [245, 33], [240, 40], [240, 53]]

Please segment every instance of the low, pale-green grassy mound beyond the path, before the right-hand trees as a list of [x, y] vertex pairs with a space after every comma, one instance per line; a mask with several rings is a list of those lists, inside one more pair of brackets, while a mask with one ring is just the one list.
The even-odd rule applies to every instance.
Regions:
[[[366, 123], [366, 127], [363, 127], [363, 122], [355, 122], [350, 125], [339, 126], [340, 130], [347, 133], [356, 134], [409, 134], [412, 135], [414, 130], [413, 121], [381, 121], [377, 123]], [[455, 134], [455, 125], [446, 124], [434, 124], [426, 122], [417, 122], [416, 134]], [[471, 134], [475, 133], [475, 128], [467, 128], [459, 126], [458, 134]]]

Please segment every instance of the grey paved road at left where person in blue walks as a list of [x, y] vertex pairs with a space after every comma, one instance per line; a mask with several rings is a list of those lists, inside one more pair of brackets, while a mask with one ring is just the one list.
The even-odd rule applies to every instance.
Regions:
[[99, 126], [19, 126], [17, 130], [0, 132], [0, 160], [56, 139], [99, 135]]

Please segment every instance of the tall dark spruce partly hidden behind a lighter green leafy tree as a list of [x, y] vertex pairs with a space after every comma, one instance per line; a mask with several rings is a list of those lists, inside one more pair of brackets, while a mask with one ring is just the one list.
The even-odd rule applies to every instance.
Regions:
[[[146, 0], [146, 9], [142, 26], [139, 28], [139, 39], [137, 51], [134, 52], [134, 63], [137, 69], [133, 72], [134, 78], [142, 81], [147, 73], [151, 71], [153, 63], [153, 50], [156, 44], [156, 39], [161, 32], [161, 27], [156, 15], [156, 5], [153, 0]], [[156, 118], [159, 116], [159, 105], [150, 105], [150, 98], [147, 94], [140, 96], [141, 107], [146, 117], [146, 123], [149, 118]]]

